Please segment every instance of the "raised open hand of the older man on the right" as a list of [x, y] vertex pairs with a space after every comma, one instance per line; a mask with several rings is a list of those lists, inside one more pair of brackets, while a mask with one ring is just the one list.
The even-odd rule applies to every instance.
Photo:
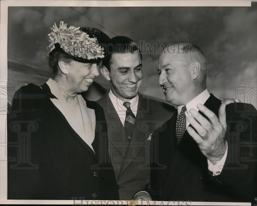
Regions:
[[[219, 107], [219, 117], [217, 117], [206, 106], [198, 104], [197, 108], [205, 114], [209, 120], [199, 112], [190, 109], [187, 120], [190, 123], [187, 131], [196, 141], [201, 152], [214, 165], [224, 156], [227, 148], [224, 128], [226, 127], [226, 103]], [[194, 130], [192, 127], [194, 127]]]

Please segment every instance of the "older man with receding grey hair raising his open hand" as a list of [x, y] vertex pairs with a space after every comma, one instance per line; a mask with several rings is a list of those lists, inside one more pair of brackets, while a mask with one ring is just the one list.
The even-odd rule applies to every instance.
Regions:
[[152, 163], [153, 199], [255, 203], [254, 106], [226, 106], [208, 92], [207, 61], [195, 45], [166, 47], [158, 73], [166, 100], [177, 105], [177, 112], [164, 131], [152, 136], [152, 143], [158, 142], [152, 155], [159, 160]]

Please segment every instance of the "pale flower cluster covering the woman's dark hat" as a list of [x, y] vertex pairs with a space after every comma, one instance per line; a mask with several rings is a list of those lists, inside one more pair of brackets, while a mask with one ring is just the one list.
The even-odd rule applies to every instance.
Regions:
[[51, 43], [47, 50], [52, 51], [55, 48], [54, 44], [59, 43], [60, 47], [72, 56], [88, 60], [104, 57], [103, 48], [98, 45], [97, 38], [90, 38], [87, 33], [80, 30], [80, 27], [67, 28], [67, 24], [61, 21], [59, 28], [54, 22], [50, 29], [52, 32], [48, 36]]

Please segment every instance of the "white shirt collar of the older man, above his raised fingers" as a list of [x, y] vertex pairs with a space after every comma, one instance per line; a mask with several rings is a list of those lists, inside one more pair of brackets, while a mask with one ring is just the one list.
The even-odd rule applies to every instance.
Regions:
[[[195, 109], [196, 111], [198, 111], [197, 104], [204, 104], [209, 97], [210, 93], [208, 92], [208, 90], [204, 90], [202, 93], [200, 93], [198, 96], [196, 96], [194, 99], [186, 104], [187, 112], [190, 109]], [[185, 105], [178, 106], [178, 114], [181, 112], [183, 106]]]

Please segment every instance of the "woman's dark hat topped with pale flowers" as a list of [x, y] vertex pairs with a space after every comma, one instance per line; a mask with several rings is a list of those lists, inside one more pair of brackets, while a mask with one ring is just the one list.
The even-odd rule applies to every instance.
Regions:
[[52, 32], [48, 36], [51, 43], [47, 46], [50, 56], [61, 50], [71, 59], [85, 63], [100, 62], [105, 57], [104, 48], [110, 38], [102, 31], [91, 27], [67, 28], [63, 21], [59, 28], [54, 22], [50, 29]]

